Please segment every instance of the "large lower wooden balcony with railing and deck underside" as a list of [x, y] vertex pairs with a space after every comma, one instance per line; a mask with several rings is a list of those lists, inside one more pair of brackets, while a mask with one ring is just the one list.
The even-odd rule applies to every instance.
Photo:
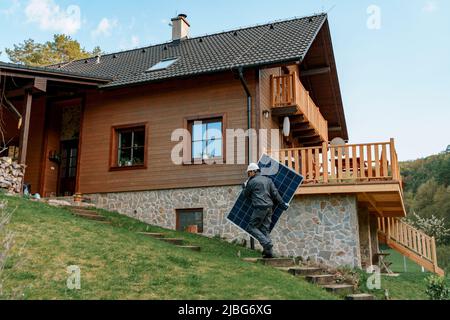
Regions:
[[380, 217], [404, 217], [403, 188], [395, 143], [284, 149], [270, 154], [304, 177], [298, 195], [357, 194]]

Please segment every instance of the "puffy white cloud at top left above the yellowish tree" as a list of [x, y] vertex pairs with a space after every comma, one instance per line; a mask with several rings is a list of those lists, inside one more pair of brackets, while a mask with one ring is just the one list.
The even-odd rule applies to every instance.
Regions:
[[28, 22], [37, 23], [42, 30], [75, 34], [81, 28], [81, 10], [76, 5], [64, 10], [54, 0], [30, 0], [25, 15]]

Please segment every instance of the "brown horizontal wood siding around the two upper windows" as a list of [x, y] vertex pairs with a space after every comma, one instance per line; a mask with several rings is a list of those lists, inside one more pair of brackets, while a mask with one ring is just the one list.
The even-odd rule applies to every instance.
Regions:
[[[246, 75], [255, 96], [254, 73]], [[228, 129], [246, 129], [246, 95], [231, 72], [89, 94], [83, 120], [79, 188], [84, 194], [236, 185], [245, 165], [172, 163], [172, 132], [184, 119], [225, 113]], [[111, 127], [148, 122], [148, 168], [110, 172]]]

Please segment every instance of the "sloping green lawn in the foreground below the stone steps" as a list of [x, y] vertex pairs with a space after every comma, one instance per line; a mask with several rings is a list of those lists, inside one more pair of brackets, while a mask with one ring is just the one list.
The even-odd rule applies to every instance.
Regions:
[[[17, 207], [15, 245], [2, 275], [3, 299], [336, 299], [276, 269], [237, 257], [257, 253], [219, 239], [151, 227], [99, 211], [112, 225], [67, 210], [0, 195]], [[178, 249], [137, 231], [164, 232], [202, 247]], [[67, 289], [67, 267], [81, 268], [81, 290]]]

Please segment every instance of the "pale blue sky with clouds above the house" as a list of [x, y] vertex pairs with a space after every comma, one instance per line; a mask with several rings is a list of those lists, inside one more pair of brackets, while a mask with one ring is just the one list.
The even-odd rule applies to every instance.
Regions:
[[[0, 51], [66, 33], [116, 52], [191, 35], [328, 12], [350, 143], [396, 139], [400, 160], [450, 144], [448, 0], [0, 0]], [[0, 60], [8, 61], [3, 53]]]

